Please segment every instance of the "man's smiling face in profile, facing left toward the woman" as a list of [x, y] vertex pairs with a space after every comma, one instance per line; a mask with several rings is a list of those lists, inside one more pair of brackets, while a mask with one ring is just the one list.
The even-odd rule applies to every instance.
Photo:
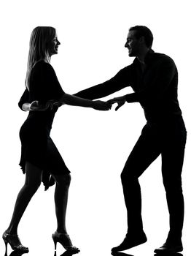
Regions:
[[128, 48], [128, 56], [136, 57], [139, 53], [139, 39], [136, 39], [136, 31], [129, 31], [125, 48]]

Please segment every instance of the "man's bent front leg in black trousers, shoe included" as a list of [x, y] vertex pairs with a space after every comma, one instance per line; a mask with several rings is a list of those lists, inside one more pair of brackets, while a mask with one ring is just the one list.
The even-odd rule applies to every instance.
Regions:
[[112, 252], [129, 249], [147, 241], [141, 219], [139, 176], [155, 161], [160, 152], [159, 133], [146, 125], [122, 170], [122, 188], [128, 214], [128, 234], [120, 246], [112, 248]]

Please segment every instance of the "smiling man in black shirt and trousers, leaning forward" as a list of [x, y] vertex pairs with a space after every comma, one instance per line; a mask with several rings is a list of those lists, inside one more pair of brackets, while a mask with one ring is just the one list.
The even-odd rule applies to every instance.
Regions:
[[132, 94], [109, 102], [120, 108], [125, 102], [139, 102], [147, 124], [131, 151], [122, 170], [122, 188], [128, 214], [128, 233], [112, 252], [143, 244], [147, 237], [141, 219], [141, 189], [139, 177], [161, 154], [163, 184], [170, 215], [170, 230], [165, 244], [155, 252], [181, 252], [184, 199], [182, 195], [182, 165], [187, 132], [177, 99], [178, 72], [174, 61], [152, 50], [152, 32], [145, 26], [129, 29], [125, 48], [133, 63], [120, 70], [112, 79], [75, 94], [86, 99], [98, 99], [126, 86]]

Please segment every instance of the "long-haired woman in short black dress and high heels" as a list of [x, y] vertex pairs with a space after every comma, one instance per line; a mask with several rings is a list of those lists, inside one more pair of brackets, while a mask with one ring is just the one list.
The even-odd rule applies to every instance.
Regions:
[[[6, 252], [7, 244], [14, 250], [28, 252], [28, 247], [23, 246], [17, 236], [17, 226], [31, 197], [42, 181], [45, 189], [54, 183], [56, 184], [55, 214], [58, 227], [52, 235], [55, 249], [57, 242], [59, 242], [66, 250], [79, 251], [77, 247], [72, 246], [65, 224], [71, 180], [70, 171], [50, 138], [50, 130], [55, 112], [58, 110], [58, 106], [62, 104], [96, 110], [109, 110], [111, 105], [108, 102], [74, 97], [63, 91], [55, 71], [50, 65], [50, 58], [53, 54], [58, 53], [58, 45], [60, 44], [56, 31], [52, 27], [39, 26], [32, 31], [28, 53], [26, 91], [19, 102], [20, 108], [30, 111], [20, 129], [22, 144], [20, 166], [23, 173], [26, 173], [26, 181], [17, 196], [9, 227], [3, 234]], [[52, 102], [57, 103], [52, 104]]]

